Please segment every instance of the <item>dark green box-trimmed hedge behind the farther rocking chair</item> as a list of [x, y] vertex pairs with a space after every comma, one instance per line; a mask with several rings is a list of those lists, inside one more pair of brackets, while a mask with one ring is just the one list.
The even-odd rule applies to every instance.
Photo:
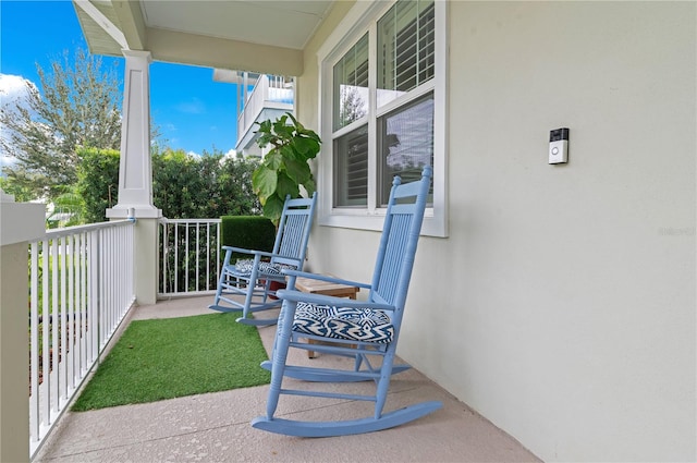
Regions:
[[[223, 246], [245, 249], [273, 251], [276, 227], [270, 219], [260, 216], [222, 216], [221, 234]], [[234, 260], [248, 258], [247, 254], [233, 253]]]

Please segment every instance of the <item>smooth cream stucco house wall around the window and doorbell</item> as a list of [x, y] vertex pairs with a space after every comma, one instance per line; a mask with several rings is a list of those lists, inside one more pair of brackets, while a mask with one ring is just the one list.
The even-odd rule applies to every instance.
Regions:
[[[546, 461], [697, 459], [696, 20], [450, 5], [450, 237], [419, 243], [400, 354]], [[315, 127], [332, 21], [299, 80]], [[317, 227], [309, 267], [367, 281], [377, 240]]]

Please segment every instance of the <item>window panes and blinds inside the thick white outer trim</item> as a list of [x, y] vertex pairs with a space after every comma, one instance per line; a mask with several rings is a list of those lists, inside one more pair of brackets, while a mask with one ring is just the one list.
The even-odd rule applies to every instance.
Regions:
[[396, 1], [331, 68], [333, 208], [383, 207], [433, 165], [435, 27], [433, 0]]

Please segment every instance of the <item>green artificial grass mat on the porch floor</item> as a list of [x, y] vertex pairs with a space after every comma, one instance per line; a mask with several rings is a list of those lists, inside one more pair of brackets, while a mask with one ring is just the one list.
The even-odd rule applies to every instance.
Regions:
[[135, 320], [73, 404], [73, 411], [155, 402], [268, 383], [268, 356], [241, 314]]

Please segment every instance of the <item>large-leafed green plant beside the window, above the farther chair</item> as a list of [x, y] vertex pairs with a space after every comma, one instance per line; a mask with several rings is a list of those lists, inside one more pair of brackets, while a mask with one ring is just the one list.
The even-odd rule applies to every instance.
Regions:
[[258, 124], [257, 145], [261, 148], [270, 146], [270, 149], [254, 171], [252, 187], [264, 207], [264, 216], [278, 223], [286, 195], [299, 197], [301, 186], [307, 195], [315, 193], [309, 160], [319, 153], [321, 141], [290, 112], [274, 122], [267, 120]]

